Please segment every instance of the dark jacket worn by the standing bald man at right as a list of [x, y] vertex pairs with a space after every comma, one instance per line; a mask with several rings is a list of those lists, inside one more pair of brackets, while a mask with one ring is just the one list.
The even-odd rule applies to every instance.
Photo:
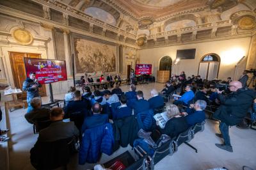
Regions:
[[250, 89], [241, 88], [236, 92], [230, 93], [227, 97], [223, 95], [218, 95], [218, 97], [221, 105], [214, 112], [214, 118], [225, 122], [227, 125], [234, 126], [240, 123], [246, 116], [256, 95]]

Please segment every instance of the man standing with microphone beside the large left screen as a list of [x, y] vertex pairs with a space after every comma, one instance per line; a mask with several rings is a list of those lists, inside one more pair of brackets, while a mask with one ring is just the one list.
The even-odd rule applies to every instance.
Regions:
[[[33, 107], [31, 107], [30, 101], [34, 97], [40, 97], [38, 88], [41, 88], [42, 85], [36, 79], [36, 73], [30, 72], [29, 77], [23, 82], [22, 89], [23, 91], [27, 91], [27, 102], [28, 102], [28, 111], [32, 111]], [[41, 98], [41, 97], [40, 97]]]

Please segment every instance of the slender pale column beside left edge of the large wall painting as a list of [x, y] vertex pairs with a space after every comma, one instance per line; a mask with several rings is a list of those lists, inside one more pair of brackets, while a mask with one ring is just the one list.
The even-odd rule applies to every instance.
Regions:
[[72, 76], [72, 72], [71, 72], [71, 62], [72, 61], [71, 61], [71, 54], [70, 54], [70, 43], [69, 43], [69, 38], [68, 38], [69, 33], [70, 33], [70, 31], [68, 29], [63, 29], [67, 75], [68, 75], [68, 77], [71, 77]]

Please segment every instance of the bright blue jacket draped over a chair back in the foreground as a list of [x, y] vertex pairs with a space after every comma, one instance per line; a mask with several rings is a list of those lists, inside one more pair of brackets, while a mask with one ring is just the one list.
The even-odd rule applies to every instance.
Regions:
[[113, 128], [110, 123], [85, 130], [79, 149], [79, 164], [99, 161], [101, 153], [112, 154], [114, 145]]

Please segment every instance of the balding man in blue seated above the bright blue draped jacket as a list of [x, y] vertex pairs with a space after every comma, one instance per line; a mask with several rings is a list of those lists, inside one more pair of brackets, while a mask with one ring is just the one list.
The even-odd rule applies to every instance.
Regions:
[[89, 116], [88, 118], [84, 119], [84, 123], [81, 128], [82, 134], [87, 128], [97, 127], [99, 125], [108, 123], [108, 114], [100, 114], [101, 111], [102, 107], [99, 103], [92, 105], [93, 116]]

